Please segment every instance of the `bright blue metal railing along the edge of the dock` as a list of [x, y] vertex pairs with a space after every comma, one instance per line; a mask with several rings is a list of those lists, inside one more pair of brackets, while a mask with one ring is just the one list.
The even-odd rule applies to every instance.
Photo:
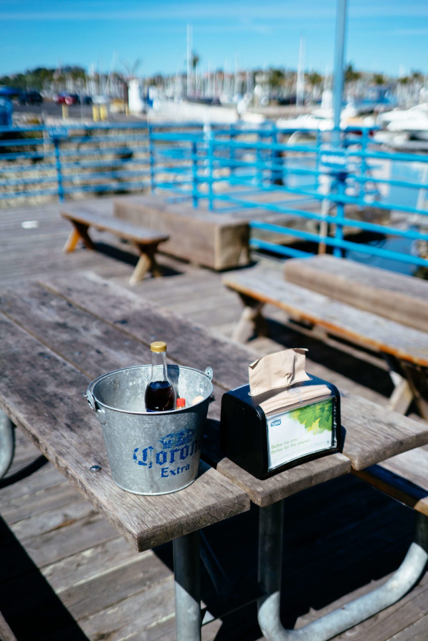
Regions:
[[428, 156], [383, 151], [369, 129], [343, 131], [339, 144], [337, 134], [332, 146], [331, 131], [300, 132], [296, 141], [295, 129], [270, 122], [0, 128], [0, 204], [164, 190], [219, 215], [246, 210], [254, 249], [309, 256], [330, 247], [428, 267], [428, 249], [412, 251], [428, 243]]

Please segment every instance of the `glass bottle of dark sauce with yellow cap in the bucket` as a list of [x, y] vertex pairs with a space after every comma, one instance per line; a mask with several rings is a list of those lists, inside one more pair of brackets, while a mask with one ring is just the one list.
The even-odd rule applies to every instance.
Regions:
[[174, 410], [176, 397], [175, 389], [168, 379], [166, 369], [166, 343], [157, 340], [150, 345], [151, 351], [151, 377], [144, 403], [147, 412], [166, 412]]

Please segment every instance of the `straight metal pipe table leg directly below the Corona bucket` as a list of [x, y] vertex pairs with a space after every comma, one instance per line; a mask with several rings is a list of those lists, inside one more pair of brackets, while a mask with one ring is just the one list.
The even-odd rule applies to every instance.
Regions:
[[173, 540], [177, 641], [201, 639], [199, 531]]

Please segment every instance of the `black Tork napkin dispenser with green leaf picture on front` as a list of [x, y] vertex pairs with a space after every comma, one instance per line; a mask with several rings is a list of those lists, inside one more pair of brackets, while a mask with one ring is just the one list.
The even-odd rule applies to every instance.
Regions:
[[[286, 408], [268, 408], [271, 392], [250, 395], [250, 385], [223, 394], [220, 444], [223, 453], [262, 479], [340, 447], [340, 395], [337, 387], [316, 376], [287, 388]], [[322, 385], [321, 396], [307, 400], [309, 387]], [[294, 400], [295, 399], [295, 400]]]

